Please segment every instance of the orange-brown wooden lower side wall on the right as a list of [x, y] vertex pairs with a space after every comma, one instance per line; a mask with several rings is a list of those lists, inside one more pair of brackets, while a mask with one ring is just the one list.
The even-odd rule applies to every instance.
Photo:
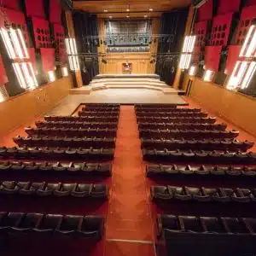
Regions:
[[[183, 90], [187, 89], [189, 75], [183, 80]], [[226, 90], [218, 84], [193, 80], [189, 97], [216, 113], [228, 119], [231, 123], [256, 136], [256, 99], [239, 92]]]

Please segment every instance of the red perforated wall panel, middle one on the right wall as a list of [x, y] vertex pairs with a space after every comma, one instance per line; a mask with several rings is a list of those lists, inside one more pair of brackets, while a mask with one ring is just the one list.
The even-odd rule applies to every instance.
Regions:
[[232, 20], [233, 13], [218, 15], [213, 18], [210, 45], [224, 46], [228, 44]]

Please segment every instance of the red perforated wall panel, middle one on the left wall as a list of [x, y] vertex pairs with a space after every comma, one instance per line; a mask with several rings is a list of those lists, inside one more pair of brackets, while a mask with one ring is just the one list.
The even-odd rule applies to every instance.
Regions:
[[32, 17], [32, 26], [35, 38], [35, 48], [52, 48], [53, 45], [49, 34], [49, 21]]

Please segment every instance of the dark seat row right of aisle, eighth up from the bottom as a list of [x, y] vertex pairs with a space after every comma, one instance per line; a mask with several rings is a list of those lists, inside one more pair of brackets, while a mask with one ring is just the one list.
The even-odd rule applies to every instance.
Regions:
[[200, 123], [200, 124], [215, 124], [216, 123], [216, 118], [195, 118], [195, 117], [171, 117], [171, 116], [137, 116], [137, 123]]

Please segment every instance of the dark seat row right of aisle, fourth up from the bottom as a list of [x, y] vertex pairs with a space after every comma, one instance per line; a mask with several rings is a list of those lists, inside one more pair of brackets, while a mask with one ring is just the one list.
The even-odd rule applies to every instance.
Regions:
[[229, 151], [156, 150], [143, 148], [143, 159], [149, 161], [211, 163], [211, 164], [256, 164], [256, 153]]

